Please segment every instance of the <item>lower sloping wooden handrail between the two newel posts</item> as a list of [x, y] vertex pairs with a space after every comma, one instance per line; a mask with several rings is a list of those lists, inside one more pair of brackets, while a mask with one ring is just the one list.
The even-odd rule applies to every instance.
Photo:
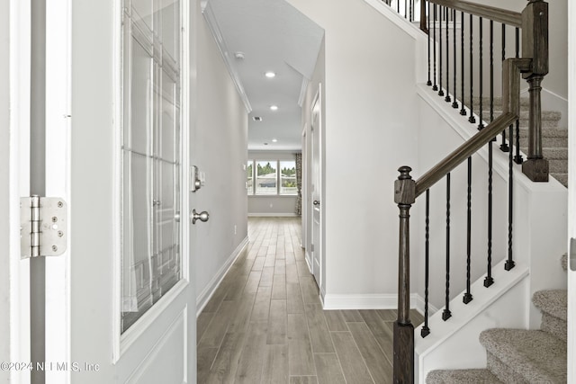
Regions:
[[498, 136], [502, 130], [507, 129], [517, 119], [518, 115], [515, 113], [504, 113], [492, 121], [490, 125], [476, 133], [473, 138], [470, 138], [462, 146], [457, 147], [454, 152], [433, 166], [426, 174], [420, 176], [416, 182], [416, 197], [426, 192], [428, 188], [441, 180], [456, 166], [462, 164], [465, 159], [478, 152], [480, 148], [488, 144], [492, 138]]

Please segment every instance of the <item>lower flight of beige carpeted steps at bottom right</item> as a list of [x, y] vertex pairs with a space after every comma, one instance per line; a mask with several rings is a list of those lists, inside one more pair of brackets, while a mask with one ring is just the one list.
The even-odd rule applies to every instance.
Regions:
[[567, 290], [537, 291], [532, 302], [542, 312], [539, 330], [487, 329], [480, 335], [480, 343], [486, 349], [486, 369], [430, 371], [426, 382], [566, 382]]

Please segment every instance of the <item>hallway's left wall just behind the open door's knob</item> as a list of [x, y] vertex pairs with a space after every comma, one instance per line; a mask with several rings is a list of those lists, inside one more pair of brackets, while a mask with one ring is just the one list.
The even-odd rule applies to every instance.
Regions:
[[200, 311], [247, 240], [247, 111], [207, 23], [202, 17], [197, 22], [198, 120], [191, 156], [206, 182], [192, 193], [191, 208], [210, 213], [207, 222], [197, 221], [193, 228]]

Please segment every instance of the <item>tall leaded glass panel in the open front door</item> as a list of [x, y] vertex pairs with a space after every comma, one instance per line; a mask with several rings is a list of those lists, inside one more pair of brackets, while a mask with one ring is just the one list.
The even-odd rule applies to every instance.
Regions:
[[[182, 279], [180, 92], [175, 60], [180, 50], [180, 7], [166, 0], [130, 4], [131, 12], [125, 4], [123, 22], [122, 333]], [[166, 10], [165, 5], [171, 8]], [[170, 17], [164, 16], [165, 10]], [[153, 39], [143, 35], [142, 22]], [[154, 30], [158, 25], [161, 31]], [[170, 59], [163, 57], [166, 49], [155, 49], [164, 45], [163, 36], [173, 47]]]

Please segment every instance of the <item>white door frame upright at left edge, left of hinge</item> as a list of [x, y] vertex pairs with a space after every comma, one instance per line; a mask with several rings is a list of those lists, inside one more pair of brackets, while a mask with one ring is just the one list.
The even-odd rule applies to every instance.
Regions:
[[[15, 364], [31, 361], [30, 260], [20, 258], [20, 197], [30, 195], [31, 4], [10, 0], [1, 6], [5, 11], [4, 31], [9, 31], [10, 38], [2, 43], [5, 53], [0, 64], [6, 70], [2, 74], [6, 82], [0, 92], [4, 102], [0, 113], [3, 121], [9, 121], [9, 140], [3, 143], [8, 167], [2, 173], [2, 183], [8, 185], [7, 199], [0, 208], [9, 218], [2, 237], [8, 252], [0, 286], [0, 296], [9, 308], [0, 315], [0, 338], [6, 343], [0, 357], [3, 363]], [[0, 380], [30, 382], [30, 370], [5, 368], [0, 371]]]

